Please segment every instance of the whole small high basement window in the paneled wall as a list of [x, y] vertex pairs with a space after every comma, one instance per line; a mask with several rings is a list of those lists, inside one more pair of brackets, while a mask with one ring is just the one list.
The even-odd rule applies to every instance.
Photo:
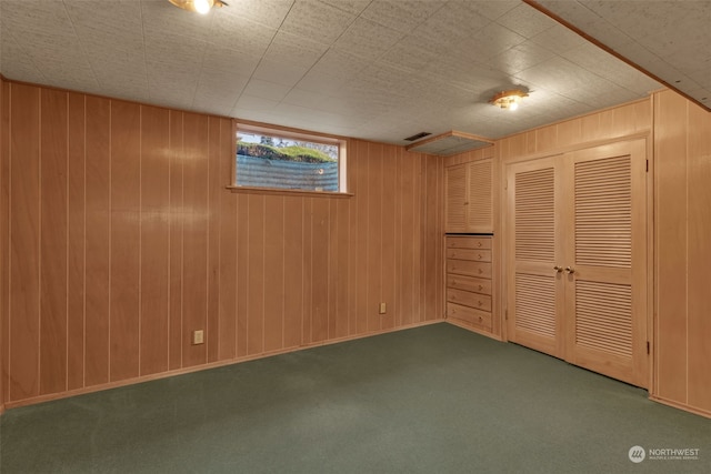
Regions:
[[233, 190], [346, 194], [346, 141], [237, 127]]

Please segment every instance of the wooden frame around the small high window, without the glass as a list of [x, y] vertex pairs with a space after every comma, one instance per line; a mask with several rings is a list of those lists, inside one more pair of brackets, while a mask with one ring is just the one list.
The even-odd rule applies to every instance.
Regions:
[[[260, 133], [268, 137], [287, 139], [287, 140], [301, 140], [313, 143], [322, 143], [337, 145], [338, 150], [338, 191], [316, 191], [306, 189], [290, 189], [290, 188], [263, 188], [263, 186], [250, 186], [238, 185], [237, 173], [239, 172], [237, 165], [237, 142], [238, 133], [240, 131], [249, 133]], [[227, 186], [232, 192], [246, 192], [246, 193], [261, 193], [261, 194], [286, 194], [286, 195], [309, 195], [309, 196], [324, 196], [324, 198], [348, 198], [353, 194], [348, 192], [348, 139], [342, 137], [327, 135], [318, 132], [309, 132], [300, 129], [283, 128], [278, 125], [269, 125], [263, 123], [238, 121], [233, 120], [232, 123], [232, 165], [230, 170], [232, 175], [230, 178], [230, 184]]]

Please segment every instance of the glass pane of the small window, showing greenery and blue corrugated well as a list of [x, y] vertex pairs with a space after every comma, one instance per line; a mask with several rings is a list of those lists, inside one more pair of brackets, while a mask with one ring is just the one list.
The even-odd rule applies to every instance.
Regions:
[[261, 132], [237, 134], [237, 185], [339, 191], [339, 145]]

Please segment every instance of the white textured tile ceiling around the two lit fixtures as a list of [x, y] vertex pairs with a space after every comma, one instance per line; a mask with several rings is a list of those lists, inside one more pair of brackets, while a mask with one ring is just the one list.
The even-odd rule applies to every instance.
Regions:
[[[661, 87], [518, 0], [228, 2], [201, 17], [167, 0], [0, 0], [0, 72], [398, 144], [421, 131], [494, 139]], [[673, 57], [687, 40], [705, 41], [695, 52], [707, 69], [690, 64], [688, 52], [665, 64], [693, 79], [693, 88], [708, 89], [710, 49], [701, 33], [708, 2], [697, 2], [702, 4], [677, 27], [645, 12], [659, 8], [665, 18], [685, 17], [687, 2], [644, 2], [644, 9], [642, 2], [541, 3], [608, 46], [622, 44], [624, 31], [633, 29], [629, 48], [620, 51], [660, 78], [669, 71], [655, 70], [654, 58]], [[655, 37], [662, 27], [677, 33], [677, 49]], [[494, 92], [515, 85], [530, 92], [518, 111], [488, 103]]]

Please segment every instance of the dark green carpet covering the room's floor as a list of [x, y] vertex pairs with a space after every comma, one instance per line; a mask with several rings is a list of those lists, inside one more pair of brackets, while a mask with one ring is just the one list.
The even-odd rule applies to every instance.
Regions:
[[[442, 323], [0, 417], [10, 473], [709, 473], [711, 420]], [[699, 450], [632, 463], [630, 447]]]

